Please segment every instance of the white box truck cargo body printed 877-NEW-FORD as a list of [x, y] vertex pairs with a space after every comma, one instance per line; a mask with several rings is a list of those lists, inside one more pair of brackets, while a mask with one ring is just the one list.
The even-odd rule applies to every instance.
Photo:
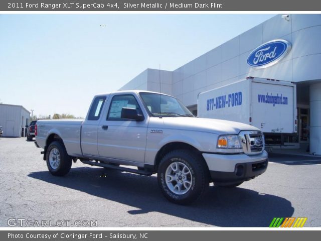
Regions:
[[264, 133], [297, 132], [296, 86], [291, 82], [247, 77], [200, 93], [198, 116], [241, 122]]

